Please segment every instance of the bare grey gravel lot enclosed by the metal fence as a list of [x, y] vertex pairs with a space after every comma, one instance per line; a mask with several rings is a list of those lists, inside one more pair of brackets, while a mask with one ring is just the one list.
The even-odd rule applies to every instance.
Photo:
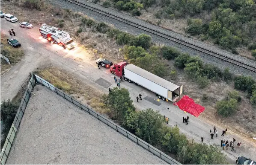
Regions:
[[46, 87], [36, 85], [6, 164], [167, 164]]

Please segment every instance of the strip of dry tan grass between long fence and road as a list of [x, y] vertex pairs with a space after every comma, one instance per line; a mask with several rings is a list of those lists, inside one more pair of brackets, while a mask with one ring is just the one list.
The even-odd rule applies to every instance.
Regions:
[[109, 112], [101, 99], [104, 94], [102, 91], [78, 80], [74, 75], [68, 74], [65, 70], [57, 67], [48, 67], [39, 70], [36, 74], [65, 93], [68, 93], [82, 104], [88, 104], [95, 111], [99, 113]]

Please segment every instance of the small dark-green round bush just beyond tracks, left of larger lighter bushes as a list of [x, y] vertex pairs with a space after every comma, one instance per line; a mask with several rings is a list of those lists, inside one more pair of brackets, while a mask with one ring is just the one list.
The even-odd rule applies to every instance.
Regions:
[[188, 28], [186, 32], [191, 35], [199, 35], [202, 33], [202, 20], [192, 19], [188, 21]]

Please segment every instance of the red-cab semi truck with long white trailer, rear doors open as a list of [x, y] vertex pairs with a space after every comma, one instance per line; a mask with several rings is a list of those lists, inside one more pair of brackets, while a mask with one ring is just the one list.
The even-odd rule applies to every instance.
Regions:
[[119, 62], [110, 67], [110, 72], [123, 76], [125, 81], [140, 85], [156, 94], [163, 101], [176, 101], [182, 94], [183, 86], [173, 84], [164, 78], [158, 77], [134, 64]]

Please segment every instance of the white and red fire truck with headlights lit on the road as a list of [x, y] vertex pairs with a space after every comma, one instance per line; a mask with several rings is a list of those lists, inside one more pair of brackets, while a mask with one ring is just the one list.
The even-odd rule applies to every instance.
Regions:
[[42, 38], [63, 46], [64, 49], [72, 49], [76, 46], [68, 32], [58, 29], [54, 26], [48, 26], [45, 23], [39, 28]]

